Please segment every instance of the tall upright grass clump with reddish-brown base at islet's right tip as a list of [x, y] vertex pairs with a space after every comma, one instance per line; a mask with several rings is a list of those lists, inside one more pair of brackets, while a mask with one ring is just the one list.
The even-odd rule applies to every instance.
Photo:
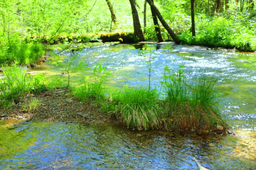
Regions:
[[181, 65], [178, 72], [166, 68], [164, 100], [165, 126], [172, 129], [210, 130], [225, 125], [218, 110], [216, 82], [207, 76], [187, 79]]

